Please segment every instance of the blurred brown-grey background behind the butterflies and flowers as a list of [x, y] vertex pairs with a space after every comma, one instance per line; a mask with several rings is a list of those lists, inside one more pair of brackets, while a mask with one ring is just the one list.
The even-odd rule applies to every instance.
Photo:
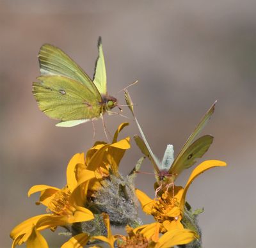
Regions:
[[[256, 1], [0, 1], [1, 247], [11, 229], [33, 215], [35, 184], [65, 185], [65, 169], [77, 152], [93, 144], [92, 125], [58, 128], [38, 110], [31, 84], [39, 75], [37, 54], [44, 43], [69, 54], [93, 75], [102, 36], [109, 94], [129, 89], [136, 114], [157, 157], [166, 144], [176, 154], [196, 124], [218, 100], [204, 134], [215, 139], [204, 159], [220, 159], [196, 178], [188, 192], [200, 215], [204, 247], [254, 247], [256, 222]], [[131, 117], [127, 108], [124, 114]], [[106, 116], [113, 133], [127, 121]], [[132, 121], [121, 137], [138, 134]], [[96, 139], [105, 139], [97, 121]], [[140, 158], [134, 143], [120, 169]], [[143, 171], [152, 171], [146, 160]], [[190, 170], [177, 182], [184, 185]], [[139, 174], [137, 187], [154, 197], [154, 176]], [[150, 221], [143, 216], [145, 223]], [[63, 236], [44, 232], [50, 247]]]

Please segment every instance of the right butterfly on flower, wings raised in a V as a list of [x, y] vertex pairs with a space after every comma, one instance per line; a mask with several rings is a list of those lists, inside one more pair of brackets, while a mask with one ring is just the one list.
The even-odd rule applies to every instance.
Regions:
[[[127, 104], [132, 106], [131, 97], [129, 96], [128, 91], [125, 91], [125, 100]], [[150, 161], [154, 166], [157, 185], [159, 185], [158, 190], [160, 190], [163, 187], [163, 185], [168, 186], [172, 184], [177, 178], [177, 176], [179, 176], [179, 174], [182, 173], [184, 169], [187, 169], [193, 166], [193, 164], [195, 164], [196, 162], [196, 159], [202, 157], [204, 153], [211, 146], [213, 137], [210, 135], [202, 136], [196, 139], [196, 141], [194, 141], [194, 139], [202, 131], [207, 121], [211, 118], [211, 115], [214, 112], [215, 104], [216, 102], [212, 104], [212, 106], [206, 112], [202, 120], [200, 120], [194, 132], [189, 136], [188, 140], [180, 150], [177, 157], [174, 159], [173, 145], [168, 144], [166, 147], [166, 150], [164, 151], [164, 156], [162, 161], [159, 161], [157, 157], [154, 155], [154, 153], [152, 152], [147, 142], [147, 139], [143, 134], [140, 124], [138, 123], [138, 120], [134, 116], [134, 119], [138, 125], [140, 134], [142, 137], [141, 139], [140, 136], [134, 136], [134, 139], [136, 141], [136, 144], [139, 146], [141, 152], [144, 155], [146, 155], [148, 159], [150, 159]], [[132, 111], [132, 114], [134, 115], [133, 108], [130, 107], [130, 109]]]

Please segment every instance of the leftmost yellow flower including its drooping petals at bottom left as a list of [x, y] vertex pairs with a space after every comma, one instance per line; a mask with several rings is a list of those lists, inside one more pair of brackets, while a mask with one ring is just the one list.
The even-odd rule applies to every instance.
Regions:
[[83, 204], [86, 198], [84, 189], [86, 189], [86, 185], [88, 187], [90, 179], [95, 177], [95, 173], [86, 171], [83, 177], [79, 180], [76, 179], [76, 165], [83, 160], [83, 153], [77, 153], [72, 157], [67, 167], [67, 185], [63, 189], [48, 185], [31, 187], [28, 196], [35, 192], [41, 192], [40, 199], [36, 204], [42, 203], [47, 206], [47, 210], [51, 213], [32, 217], [13, 228], [10, 235], [13, 238], [13, 247], [24, 242], [27, 244], [28, 242], [29, 244], [42, 242], [42, 247], [44, 247], [44, 238], [38, 231], [48, 228], [55, 229], [56, 226], [64, 226], [74, 222], [90, 221], [94, 218], [93, 213], [84, 208]]

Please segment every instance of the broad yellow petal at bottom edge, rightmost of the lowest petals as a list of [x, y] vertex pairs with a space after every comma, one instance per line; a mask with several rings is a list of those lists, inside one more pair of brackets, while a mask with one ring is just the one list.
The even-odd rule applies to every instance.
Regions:
[[184, 245], [188, 244], [195, 239], [195, 233], [189, 229], [174, 229], [164, 233], [161, 238], [159, 238], [156, 248], [168, 248], [174, 245]]

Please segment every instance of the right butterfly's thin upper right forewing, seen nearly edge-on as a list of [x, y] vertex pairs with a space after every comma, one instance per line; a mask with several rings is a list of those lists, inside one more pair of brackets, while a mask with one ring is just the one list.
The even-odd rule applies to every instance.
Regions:
[[177, 160], [180, 159], [180, 157], [183, 155], [183, 153], [191, 145], [191, 143], [193, 142], [195, 137], [198, 136], [198, 134], [200, 134], [202, 129], [205, 127], [205, 125], [207, 124], [207, 122], [209, 121], [209, 119], [211, 118], [211, 116], [212, 116], [212, 114], [214, 112], [214, 108], [215, 108], [216, 102], [217, 101], [215, 101], [214, 104], [211, 105], [210, 109], [205, 113], [204, 117], [200, 120], [200, 122], [198, 123], [198, 125], [195, 128], [194, 132], [189, 136], [188, 140], [186, 141], [186, 143], [184, 144], [184, 146], [180, 150], [179, 154], [177, 155], [177, 157], [175, 158], [173, 163], [175, 163]]

